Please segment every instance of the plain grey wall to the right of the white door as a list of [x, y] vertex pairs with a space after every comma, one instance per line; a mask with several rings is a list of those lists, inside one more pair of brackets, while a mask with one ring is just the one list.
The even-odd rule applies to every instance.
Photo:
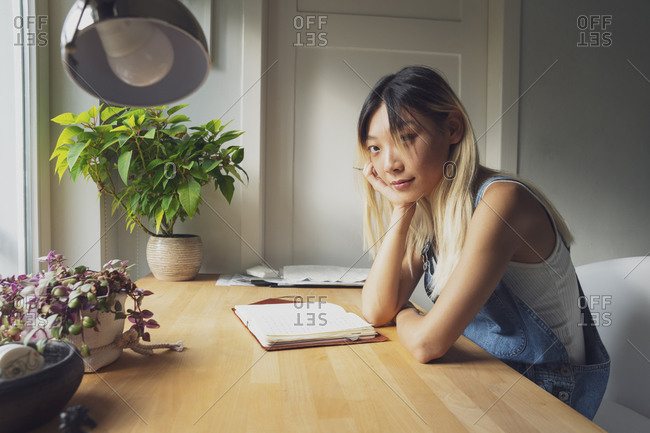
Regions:
[[[580, 15], [611, 15], [611, 46], [578, 47]], [[519, 173], [564, 215], [576, 265], [650, 250], [648, 16], [643, 1], [522, 5]]]

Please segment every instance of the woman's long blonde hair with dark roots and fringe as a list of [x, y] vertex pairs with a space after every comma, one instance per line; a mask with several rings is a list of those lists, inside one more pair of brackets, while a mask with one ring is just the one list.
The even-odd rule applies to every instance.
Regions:
[[[382, 104], [386, 105], [390, 130], [398, 146], [406, 116], [414, 118], [415, 114], [431, 119], [438, 128], [443, 128], [444, 121], [452, 112], [460, 113], [462, 118], [464, 135], [458, 143], [451, 145], [437, 187], [428, 197], [418, 200], [407, 235], [406, 253], [411, 269], [415, 266], [413, 258], [427, 241], [431, 242], [437, 258], [433, 276], [434, 295], [437, 296], [458, 263], [474, 211], [476, 181], [481, 167], [472, 126], [462, 103], [440, 74], [425, 66], [409, 66], [382, 77], [366, 98], [357, 128], [357, 164], [369, 161], [366, 149], [368, 128]], [[390, 230], [386, 224], [390, 221], [393, 206], [367, 181], [363, 181], [362, 188], [364, 240], [366, 248], [374, 254], [382, 237]], [[538, 190], [531, 189], [546, 205], [565, 241], [570, 243], [571, 235], [559, 213]]]

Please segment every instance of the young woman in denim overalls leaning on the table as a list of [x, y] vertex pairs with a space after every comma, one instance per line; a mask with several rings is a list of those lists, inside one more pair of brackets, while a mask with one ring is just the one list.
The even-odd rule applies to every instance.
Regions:
[[[379, 80], [358, 125], [366, 242], [363, 314], [394, 321], [420, 362], [464, 334], [589, 418], [609, 357], [569, 257], [562, 217], [530, 185], [482, 167], [467, 114], [432, 69]], [[435, 268], [435, 272], [434, 272]], [[434, 305], [409, 298], [422, 275]]]

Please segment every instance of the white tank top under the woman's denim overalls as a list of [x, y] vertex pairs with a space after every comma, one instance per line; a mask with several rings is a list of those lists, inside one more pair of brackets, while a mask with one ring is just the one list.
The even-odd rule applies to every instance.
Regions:
[[585, 343], [580, 324], [584, 320], [580, 317], [578, 280], [569, 249], [555, 221], [535, 193], [514, 180], [498, 179], [495, 182], [515, 182], [525, 187], [544, 207], [555, 231], [555, 248], [548, 258], [540, 263], [510, 262], [503, 282], [513, 295], [526, 303], [553, 330], [569, 353], [571, 364], [583, 365]]

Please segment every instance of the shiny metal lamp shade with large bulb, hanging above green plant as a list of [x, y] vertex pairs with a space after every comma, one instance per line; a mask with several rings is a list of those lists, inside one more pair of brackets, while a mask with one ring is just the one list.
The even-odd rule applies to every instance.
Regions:
[[61, 57], [82, 89], [131, 107], [188, 96], [210, 71], [201, 26], [178, 0], [78, 0], [63, 24]]

